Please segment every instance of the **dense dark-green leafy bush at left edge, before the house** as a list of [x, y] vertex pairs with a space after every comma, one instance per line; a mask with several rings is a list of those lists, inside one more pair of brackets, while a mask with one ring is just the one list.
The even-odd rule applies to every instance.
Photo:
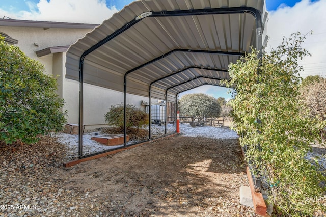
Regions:
[[0, 140], [33, 143], [37, 135], [62, 130], [66, 112], [57, 81], [44, 66], [0, 38]]

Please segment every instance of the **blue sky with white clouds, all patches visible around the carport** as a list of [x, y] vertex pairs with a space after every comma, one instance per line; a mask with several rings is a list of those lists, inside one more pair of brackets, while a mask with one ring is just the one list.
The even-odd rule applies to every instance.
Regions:
[[[131, 0], [0, 0], [0, 18], [100, 24], [131, 2]], [[302, 76], [326, 76], [324, 61], [326, 0], [266, 0], [266, 8], [269, 11], [267, 23], [269, 47], [275, 48], [283, 36], [289, 37], [291, 33], [299, 31], [305, 34], [313, 31], [313, 35], [307, 36], [304, 47], [312, 57], [302, 62], [305, 68]], [[194, 92], [206, 93], [215, 98], [231, 97], [228, 89], [208, 85], [183, 94]]]

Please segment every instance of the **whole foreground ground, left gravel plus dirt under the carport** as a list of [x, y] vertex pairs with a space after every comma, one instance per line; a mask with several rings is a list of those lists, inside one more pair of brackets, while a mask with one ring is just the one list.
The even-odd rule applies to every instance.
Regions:
[[256, 216], [237, 139], [178, 135], [71, 168], [55, 138], [0, 149], [0, 216]]

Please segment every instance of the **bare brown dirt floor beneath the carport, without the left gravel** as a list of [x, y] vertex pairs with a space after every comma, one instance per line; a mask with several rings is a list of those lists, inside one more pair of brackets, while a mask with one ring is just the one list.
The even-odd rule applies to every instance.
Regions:
[[252, 216], [238, 140], [173, 137], [60, 169], [66, 188], [108, 216]]

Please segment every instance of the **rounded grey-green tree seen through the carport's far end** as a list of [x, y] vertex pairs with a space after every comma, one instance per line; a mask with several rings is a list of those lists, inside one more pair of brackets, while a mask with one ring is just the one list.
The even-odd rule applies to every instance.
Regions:
[[221, 106], [218, 101], [203, 93], [186, 94], [179, 100], [180, 113], [184, 116], [219, 117]]

